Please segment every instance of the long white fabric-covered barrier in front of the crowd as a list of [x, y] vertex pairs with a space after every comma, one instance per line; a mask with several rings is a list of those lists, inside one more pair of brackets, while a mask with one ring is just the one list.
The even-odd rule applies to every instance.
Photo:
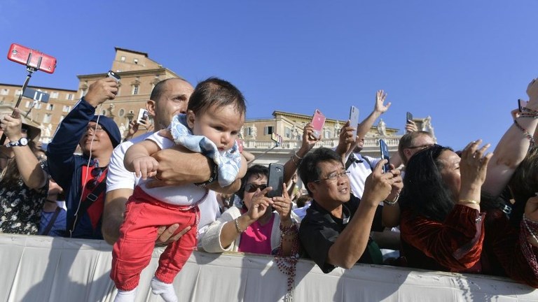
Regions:
[[[149, 282], [163, 249], [153, 252], [137, 301], [163, 301]], [[113, 301], [111, 246], [102, 240], [0, 235], [0, 301]], [[357, 265], [324, 274], [297, 264], [294, 301], [538, 301], [538, 290], [504, 278]], [[282, 301], [287, 276], [273, 257], [194, 252], [174, 281], [179, 301]]]

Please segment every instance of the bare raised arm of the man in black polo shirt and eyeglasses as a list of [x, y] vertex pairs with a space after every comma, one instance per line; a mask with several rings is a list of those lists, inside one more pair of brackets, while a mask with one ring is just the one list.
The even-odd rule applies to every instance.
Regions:
[[385, 162], [385, 159], [380, 161], [366, 178], [364, 193], [357, 212], [329, 249], [327, 256], [329, 264], [351, 268], [366, 250], [375, 210], [378, 204], [389, 196], [394, 182], [392, 173], [381, 171], [381, 166]]

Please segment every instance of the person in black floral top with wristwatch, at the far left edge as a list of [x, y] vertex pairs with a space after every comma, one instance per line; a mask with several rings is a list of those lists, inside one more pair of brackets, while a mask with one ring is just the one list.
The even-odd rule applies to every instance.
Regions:
[[[33, 140], [39, 129], [23, 124], [19, 110], [1, 118], [1, 129], [8, 140], [0, 152], [8, 157], [0, 173], [0, 232], [36, 235], [41, 208], [48, 193], [46, 161], [39, 161]], [[1, 134], [0, 134], [1, 135]]]

